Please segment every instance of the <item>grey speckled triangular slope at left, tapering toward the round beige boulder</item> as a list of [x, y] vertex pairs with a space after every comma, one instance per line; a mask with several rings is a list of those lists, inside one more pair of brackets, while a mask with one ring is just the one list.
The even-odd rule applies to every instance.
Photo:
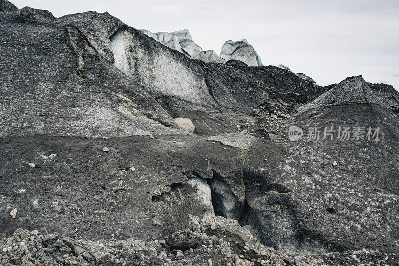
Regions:
[[[0, 30], [4, 36], [0, 71], [5, 77], [0, 80], [2, 137], [179, 132], [177, 127], [164, 126], [175, 123], [140, 86], [102, 58], [76, 28], [2, 23]], [[19, 56], [23, 63], [12, 59]]]

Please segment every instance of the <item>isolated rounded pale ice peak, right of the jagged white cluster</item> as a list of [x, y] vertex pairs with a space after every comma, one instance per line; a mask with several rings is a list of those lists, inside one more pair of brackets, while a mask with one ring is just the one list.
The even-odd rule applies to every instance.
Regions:
[[241, 41], [226, 41], [221, 47], [220, 57], [228, 61], [240, 60], [248, 66], [263, 66], [259, 55], [246, 39]]

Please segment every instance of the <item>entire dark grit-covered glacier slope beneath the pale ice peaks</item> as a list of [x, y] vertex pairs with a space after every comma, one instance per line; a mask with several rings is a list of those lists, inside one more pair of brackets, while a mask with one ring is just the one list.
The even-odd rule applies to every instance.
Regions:
[[[187, 30], [149, 37], [95, 12], [43, 23], [48, 14], [33, 20], [0, 4], [1, 236], [46, 226], [93, 243], [140, 239], [154, 265], [165, 263], [164, 253], [186, 264], [239, 264], [242, 256], [248, 264], [301, 265], [287, 254], [398, 252], [392, 86], [359, 76], [320, 87], [279, 67], [233, 61], [240, 59], [207, 64], [167, 47], [191, 43]], [[215, 58], [212, 51], [197, 57]], [[381, 139], [291, 142], [292, 125], [305, 133], [379, 127]], [[94, 254], [67, 257], [117, 263], [93, 243]], [[8, 246], [0, 241], [1, 260]], [[12, 256], [28, 260], [17, 250]], [[61, 258], [51, 250], [39, 254]]]

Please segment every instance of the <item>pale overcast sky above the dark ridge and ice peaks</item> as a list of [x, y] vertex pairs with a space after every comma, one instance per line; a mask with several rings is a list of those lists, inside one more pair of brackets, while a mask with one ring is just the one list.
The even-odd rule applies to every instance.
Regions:
[[264, 65], [319, 85], [363, 75], [399, 89], [399, 0], [11, 0], [54, 16], [108, 11], [152, 32], [188, 28], [203, 50], [246, 38]]

